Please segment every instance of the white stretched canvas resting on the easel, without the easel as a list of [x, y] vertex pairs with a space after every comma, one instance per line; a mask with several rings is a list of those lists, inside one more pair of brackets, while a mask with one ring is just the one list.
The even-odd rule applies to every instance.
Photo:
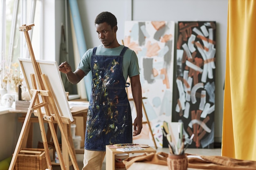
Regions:
[[[29, 85], [27, 88], [29, 90], [33, 89], [31, 77], [28, 76], [30, 74], [35, 74], [31, 59], [19, 58], [18, 60], [20, 61], [20, 65], [24, 68], [24, 77], [27, 81], [27, 84]], [[55, 104], [58, 109], [58, 113], [62, 117], [69, 118], [71, 122], [74, 121], [61, 80], [61, 74], [58, 71], [57, 62], [46, 60], [36, 60], [36, 62], [38, 63], [42, 74], [45, 74], [48, 82], [50, 82], [49, 85], [54, 97], [54, 101], [56, 102]]]

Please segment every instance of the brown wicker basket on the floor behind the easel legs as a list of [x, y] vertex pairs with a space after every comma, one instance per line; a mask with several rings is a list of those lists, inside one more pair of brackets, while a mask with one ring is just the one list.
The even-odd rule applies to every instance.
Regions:
[[44, 149], [25, 148], [20, 150], [14, 170], [45, 170], [47, 161]]

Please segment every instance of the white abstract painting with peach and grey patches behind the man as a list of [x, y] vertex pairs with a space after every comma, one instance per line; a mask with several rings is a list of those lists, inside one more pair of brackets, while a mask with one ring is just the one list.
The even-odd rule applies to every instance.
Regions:
[[[124, 45], [138, 56], [142, 96], [146, 97], [143, 102], [158, 147], [162, 147], [163, 121], [171, 122], [174, 29], [175, 23], [169, 21], [125, 22]], [[130, 95], [128, 97], [132, 97]], [[132, 109], [132, 117], [136, 117], [135, 109]], [[133, 142], [153, 146], [146, 124]]]

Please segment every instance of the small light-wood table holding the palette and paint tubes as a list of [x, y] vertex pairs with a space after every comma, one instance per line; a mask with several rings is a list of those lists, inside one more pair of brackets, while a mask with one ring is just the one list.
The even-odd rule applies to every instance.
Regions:
[[120, 153], [156, 153], [156, 150], [148, 147], [146, 150], [136, 150], [131, 152], [120, 152], [116, 148], [109, 148], [108, 145], [106, 145], [106, 170], [115, 170], [115, 154]]

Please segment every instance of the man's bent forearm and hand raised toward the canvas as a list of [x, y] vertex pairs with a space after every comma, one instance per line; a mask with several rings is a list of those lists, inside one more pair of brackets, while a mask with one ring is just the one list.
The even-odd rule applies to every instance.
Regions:
[[58, 66], [58, 70], [65, 73], [68, 81], [72, 84], [77, 84], [85, 76], [85, 73], [79, 68], [72, 72], [72, 68], [67, 62], [61, 63], [61, 65]]

